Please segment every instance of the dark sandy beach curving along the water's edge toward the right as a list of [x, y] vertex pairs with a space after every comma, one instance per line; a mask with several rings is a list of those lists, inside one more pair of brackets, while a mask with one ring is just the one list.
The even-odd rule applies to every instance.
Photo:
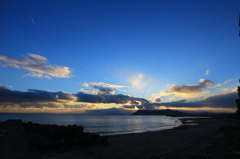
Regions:
[[[109, 136], [109, 144], [107, 146], [93, 146], [64, 153], [47, 152], [41, 154], [41, 156], [45, 159], [196, 159], [239, 157], [240, 152], [237, 149], [235, 151], [232, 148], [234, 149], [233, 152], [231, 151], [231, 154], [224, 156], [221, 154], [225, 153], [224, 146], [222, 152], [218, 152], [220, 148], [217, 146], [220, 144], [216, 145], [216, 142], [229, 140], [224, 136], [220, 128], [238, 127], [238, 120], [231, 119], [228, 116], [214, 116], [210, 118], [183, 118], [181, 121], [183, 125], [174, 129]], [[211, 154], [212, 152], [218, 152], [219, 154]]]

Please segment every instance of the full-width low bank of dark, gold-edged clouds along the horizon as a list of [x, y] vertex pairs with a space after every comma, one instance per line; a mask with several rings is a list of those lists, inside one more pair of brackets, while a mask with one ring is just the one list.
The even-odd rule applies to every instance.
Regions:
[[[99, 109], [87, 110], [88, 114], [126, 114], [128, 111], [138, 109], [158, 109], [160, 107], [174, 108], [236, 108], [235, 100], [238, 99], [236, 92], [208, 96], [199, 101], [179, 100], [168, 103], [150, 102], [144, 98], [132, 97], [124, 94], [88, 94], [79, 92], [70, 94], [63, 91], [50, 92], [29, 89], [27, 92], [11, 90], [10, 86], [0, 86], [0, 107], [11, 108], [84, 108], [93, 109], [95, 104], [126, 104], [123, 109]], [[89, 104], [83, 104], [89, 103]], [[124, 110], [128, 109], [128, 110]]]

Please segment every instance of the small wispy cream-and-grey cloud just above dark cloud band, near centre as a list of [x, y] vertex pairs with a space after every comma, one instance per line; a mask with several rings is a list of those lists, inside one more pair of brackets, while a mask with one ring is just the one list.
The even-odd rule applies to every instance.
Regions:
[[115, 90], [119, 90], [119, 88], [123, 88], [124, 86], [120, 85], [113, 85], [113, 84], [107, 84], [103, 82], [99, 83], [83, 83], [82, 84], [84, 87], [89, 87], [92, 89], [87, 89], [87, 88], [82, 88], [80, 89], [83, 92], [88, 92], [88, 93], [94, 93], [94, 94], [99, 94], [99, 95], [104, 95], [104, 94], [115, 94]]

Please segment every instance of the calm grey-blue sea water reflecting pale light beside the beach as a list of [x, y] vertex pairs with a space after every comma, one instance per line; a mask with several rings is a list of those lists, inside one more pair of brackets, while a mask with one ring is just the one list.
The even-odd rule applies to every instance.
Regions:
[[181, 125], [177, 118], [167, 116], [0, 113], [0, 121], [7, 119], [22, 119], [23, 122], [39, 124], [82, 125], [84, 132], [101, 135], [164, 130]]

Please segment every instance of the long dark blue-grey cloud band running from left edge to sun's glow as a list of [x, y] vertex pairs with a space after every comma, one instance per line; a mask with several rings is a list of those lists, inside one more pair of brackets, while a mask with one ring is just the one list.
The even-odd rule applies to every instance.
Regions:
[[14, 91], [6, 86], [0, 87], [0, 102], [24, 103], [24, 102], [87, 102], [87, 103], [116, 103], [116, 104], [146, 104], [148, 100], [123, 94], [87, 94], [79, 92], [70, 94], [63, 91], [49, 92], [29, 89], [27, 92]]

